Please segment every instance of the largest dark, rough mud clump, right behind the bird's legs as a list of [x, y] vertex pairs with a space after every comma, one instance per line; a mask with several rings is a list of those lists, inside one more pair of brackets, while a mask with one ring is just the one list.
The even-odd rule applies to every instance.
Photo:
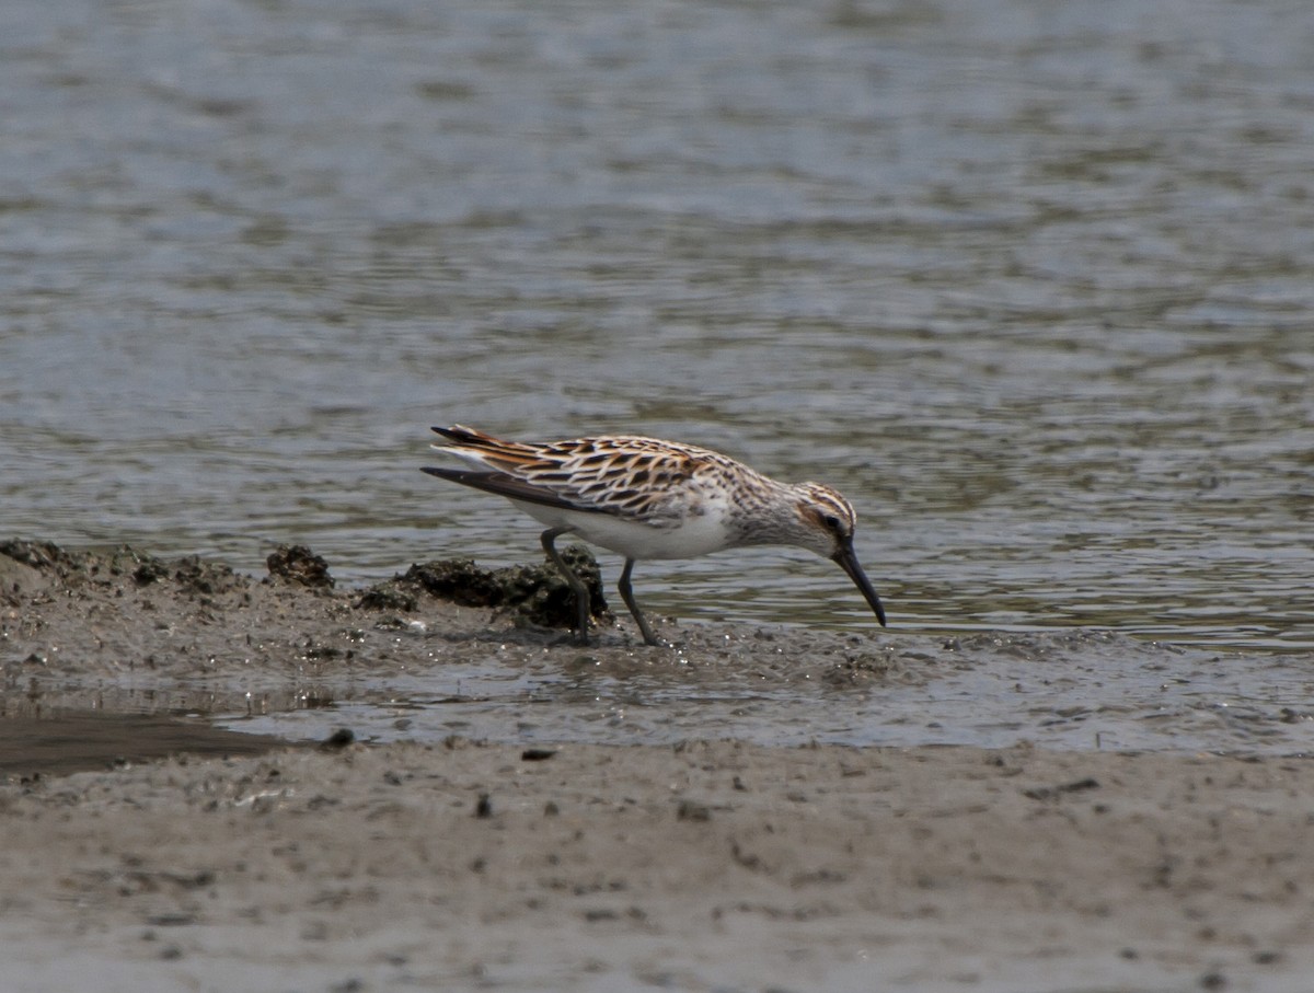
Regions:
[[[602, 591], [602, 570], [582, 545], [570, 545], [561, 557], [589, 588], [589, 612], [611, 620]], [[541, 565], [481, 569], [469, 558], [444, 558], [413, 565], [405, 575], [367, 590], [356, 606], [365, 609], [414, 611], [419, 594], [463, 607], [489, 607], [511, 612], [518, 620], [543, 628], [572, 628], [574, 594], [556, 567]]]

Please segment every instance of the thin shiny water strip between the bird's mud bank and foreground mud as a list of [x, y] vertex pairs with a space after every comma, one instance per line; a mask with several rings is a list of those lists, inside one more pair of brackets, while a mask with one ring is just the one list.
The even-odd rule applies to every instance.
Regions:
[[[711, 634], [711, 632], [704, 632]], [[674, 655], [640, 649], [629, 665], [502, 646], [476, 663], [361, 679], [310, 709], [251, 708], [233, 730], [368, 741], [456, 734], [524, 745], [669, 745], [735, 738], [880, 747], [972, 745], [1114, 751], [1314, 754], [1314, 676], [1305, 659], [1206, 654], [1106, 633], [854, 641], [896, 674], [840, 680], [753, 634], [725, 633], [727, 657], [695, 638]], [[715, 636], [712, 638], [715, 641]], [[566, 651], [566, 655], [574, 653]], [[773, 654], [777, 657], [773, 665]]]

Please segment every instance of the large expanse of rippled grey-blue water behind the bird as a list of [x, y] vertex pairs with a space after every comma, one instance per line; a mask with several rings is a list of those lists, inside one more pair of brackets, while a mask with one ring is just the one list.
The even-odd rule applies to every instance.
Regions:
[[[1314, 646], [1307, 4], [5, 21], [3, 535], [522, 561], [427, 426], [641, 431], [849, 494], [901, 630]], [[874, 624], [788, 552], [636, 583]]]

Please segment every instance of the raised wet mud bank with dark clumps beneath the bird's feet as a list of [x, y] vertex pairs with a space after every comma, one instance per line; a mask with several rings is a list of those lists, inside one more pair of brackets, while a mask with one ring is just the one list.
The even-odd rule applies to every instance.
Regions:
[[[775, 694], [915, 678], [888, 646], [824, 632], [727, 633], [665, 620], [673, 648], [648, 649], [608, 611], [593, 556], [582, 546], [564, 554], [593, 592], [587, 648], [570, 637], [572, 594], [547, 562], [485, 570], [444, 560], [351, 590], [300, 546], [271, 554], [258, 578], [127, 546], [3, 542], [0, 701], [237, 720], [381, 695], [478, 703], [480, 687], [493, 684], [541, 700], [635, 679], [668, 691]], [[459, 686], [444, 690], [452, 674]]]

